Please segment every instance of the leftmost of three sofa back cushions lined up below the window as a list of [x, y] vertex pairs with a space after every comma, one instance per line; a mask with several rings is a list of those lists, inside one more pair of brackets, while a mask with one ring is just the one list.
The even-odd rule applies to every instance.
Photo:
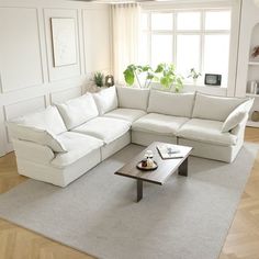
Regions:
[[149, 89], [117, 87], [120, 108], [147, 110]]

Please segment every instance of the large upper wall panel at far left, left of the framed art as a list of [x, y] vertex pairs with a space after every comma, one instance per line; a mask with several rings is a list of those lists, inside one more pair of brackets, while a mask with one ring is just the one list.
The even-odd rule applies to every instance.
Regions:
[[43, 83], [36, 8], [0, 8], [2, 92]]

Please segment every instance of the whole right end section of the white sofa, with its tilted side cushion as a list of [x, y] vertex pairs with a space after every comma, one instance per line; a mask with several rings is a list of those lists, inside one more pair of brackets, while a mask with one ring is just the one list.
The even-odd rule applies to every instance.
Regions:
[[179, 130], [178, 143], [192, 146], [193, 156], [232, 162], [244, 144], [252, 102], [198, 93], [192, 119]]

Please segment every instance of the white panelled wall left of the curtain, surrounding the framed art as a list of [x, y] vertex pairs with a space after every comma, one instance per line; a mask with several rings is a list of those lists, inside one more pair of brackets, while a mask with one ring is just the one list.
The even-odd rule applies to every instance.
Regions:
[[[76, 21], [77, 63], [54, 67], [50, 18]], [[0, 1], [0, 156], [12, 150], [4, 122], [78, 97], [110, 71], [109, 7], [50, 0]]]

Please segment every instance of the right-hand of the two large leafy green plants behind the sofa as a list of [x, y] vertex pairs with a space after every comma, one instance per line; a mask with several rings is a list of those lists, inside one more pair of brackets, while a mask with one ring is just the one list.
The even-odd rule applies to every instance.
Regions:
[[176, 74], [176, 67], [173, 64], [159, 64], [155, 74], [157, 75], [154, 77], [155, 80], [159, 81], [164, 89], [171, 90], [174, 88], [174, 92], [180, 92], [183, 88], [183, 77]]

